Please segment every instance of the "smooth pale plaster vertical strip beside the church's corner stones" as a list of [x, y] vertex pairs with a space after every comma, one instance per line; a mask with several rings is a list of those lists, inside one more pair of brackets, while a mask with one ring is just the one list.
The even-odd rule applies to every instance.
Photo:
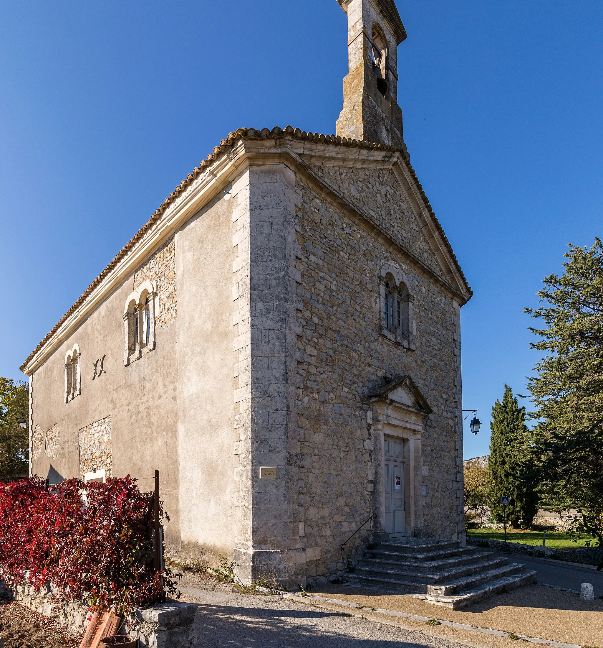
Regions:
[[235, 535], [233, 205], [221, 194], [175, 237], [182, 542], [213, 562]]

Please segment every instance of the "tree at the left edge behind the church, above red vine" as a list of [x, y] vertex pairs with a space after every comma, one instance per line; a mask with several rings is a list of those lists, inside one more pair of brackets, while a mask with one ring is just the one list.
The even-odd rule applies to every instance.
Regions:
[[27, 474], [29, 433], [19, 419], [28, 420], [27, 382], [0, 376], [0, 481], [12, 481]]

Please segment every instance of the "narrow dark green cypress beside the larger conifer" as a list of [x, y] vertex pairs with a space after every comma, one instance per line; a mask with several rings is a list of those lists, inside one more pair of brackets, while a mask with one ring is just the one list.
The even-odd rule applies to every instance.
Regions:
[[494, 519], [502, 522], [500, 498], [508, 496], [507, 520], [514, 529], [529, 526], [538, 511], [538, 474], [525, 419], [525, 408], [518, 406], [511, 388], [505, 385], [503, 402], [494, 404], [490, 423], [490, 509]]

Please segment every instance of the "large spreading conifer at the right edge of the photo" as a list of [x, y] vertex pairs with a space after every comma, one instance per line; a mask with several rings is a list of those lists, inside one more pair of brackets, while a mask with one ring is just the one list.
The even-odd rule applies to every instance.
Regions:
[[538, 292], [548, 305], [527, 308], [541, 318], [532, 348], [545, 356], [528, 383], [539, 422], [534, 446], [543, 494], [579, 511], [575, 531], [603, 546], [603, 244], [571, 244], [565, 273]]

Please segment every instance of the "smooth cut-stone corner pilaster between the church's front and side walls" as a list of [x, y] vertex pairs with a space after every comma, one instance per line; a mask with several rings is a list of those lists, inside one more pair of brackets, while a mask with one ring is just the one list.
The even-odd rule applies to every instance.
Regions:
[[[303, 510], [292, 499], [298, 481], [296, 415], [295, 178], [283, 165], [253, 168], [236, 183], [233, 212], [234, 400], [237, 577], [278, 573], [305, 578]], [[278, 467], [263, 480], [259, 466]]]

